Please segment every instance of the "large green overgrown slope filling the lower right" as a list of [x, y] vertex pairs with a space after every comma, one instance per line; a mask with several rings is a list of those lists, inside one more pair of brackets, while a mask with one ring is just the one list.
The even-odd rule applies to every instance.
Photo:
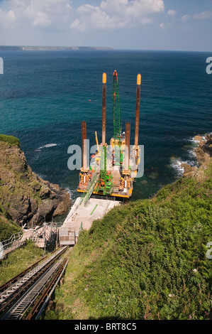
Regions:
[[207, 319], [212, 166], [199, 175], [82, 231], [45, 318]]

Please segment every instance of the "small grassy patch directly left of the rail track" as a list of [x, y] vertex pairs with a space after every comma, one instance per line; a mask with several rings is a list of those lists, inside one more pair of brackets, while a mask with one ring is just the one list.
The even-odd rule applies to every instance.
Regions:
[[0, 285], [20, 274], [42, 256], [43, 249], [35, 246], [31, 240], [28, 240], [26, 246], [9, 253], [5, 259], [0, 260]]

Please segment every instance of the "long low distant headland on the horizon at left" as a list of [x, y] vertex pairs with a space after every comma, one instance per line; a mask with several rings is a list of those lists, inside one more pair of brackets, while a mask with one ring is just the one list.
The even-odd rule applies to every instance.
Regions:
[[21, 45], [0, 45], [0, 51], [48, 51], [48, 50], [113, 50], [106, 46], [21, 46]]

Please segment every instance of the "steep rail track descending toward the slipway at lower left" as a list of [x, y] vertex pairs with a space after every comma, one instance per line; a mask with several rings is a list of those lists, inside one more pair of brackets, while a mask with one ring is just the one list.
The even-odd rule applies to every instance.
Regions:
[[38, 319], [50, 294], [65, 271], [60, 258], [69, 247], [60, 247], [0, 286], [0, 320]]

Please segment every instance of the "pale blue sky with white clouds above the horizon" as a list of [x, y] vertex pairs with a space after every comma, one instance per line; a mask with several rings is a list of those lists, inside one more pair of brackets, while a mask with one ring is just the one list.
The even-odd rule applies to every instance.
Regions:
[[0, 0], [0, 45], [211, 52], [211, 0]]

